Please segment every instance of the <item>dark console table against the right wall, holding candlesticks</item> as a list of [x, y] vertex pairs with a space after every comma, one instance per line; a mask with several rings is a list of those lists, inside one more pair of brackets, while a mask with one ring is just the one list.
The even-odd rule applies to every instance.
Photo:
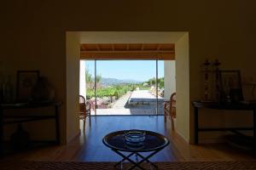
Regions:
[[[201, 102], [194, 101], [192, 102], [194, 106], [194, 114], [195, 114], [195, 144], [198, 144], [198, 133], [206, 132], [206, 131], [231, 131], [233, 133], [239, 133], [238, 130], [252, 130], [253, 137], [256, 138], [256, 103], [219, 103], [219, 102]], [[230, 111], [253, 111], [253, 127], [212, 127], [212, 128], [202, 128], [198, 126], [198, 110], [200, 108], [214, 109], [214, 110], [230, 110]]]

